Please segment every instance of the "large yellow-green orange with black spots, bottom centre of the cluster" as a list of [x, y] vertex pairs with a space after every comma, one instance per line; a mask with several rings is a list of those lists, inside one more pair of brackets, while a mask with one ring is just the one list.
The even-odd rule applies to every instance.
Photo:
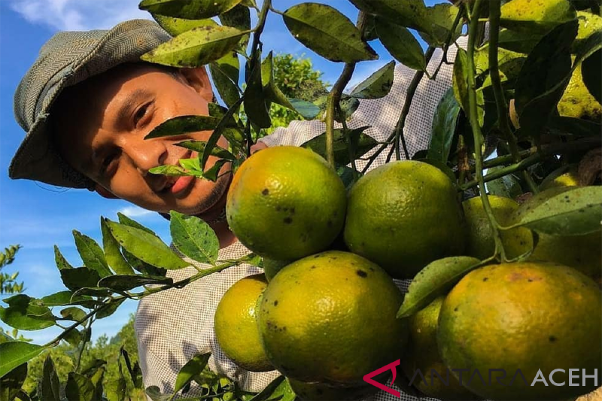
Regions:
[[408, 336], [396, 319], [402, 292], [361, 256], [326, 251], [297, 260], [270, 281], [258, 320], [265, 353], [284, 375], [330, 385], [364, 384], [402, 357]]

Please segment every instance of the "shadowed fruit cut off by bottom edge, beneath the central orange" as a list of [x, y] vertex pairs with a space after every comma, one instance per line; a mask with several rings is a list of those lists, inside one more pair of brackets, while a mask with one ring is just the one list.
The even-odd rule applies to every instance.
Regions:
[[288, 379], [294, 393], [302, 401], [360, 401], [378, 391], [373, 385], [354, 387], [332, 387], [320, 382], [306, 383]]

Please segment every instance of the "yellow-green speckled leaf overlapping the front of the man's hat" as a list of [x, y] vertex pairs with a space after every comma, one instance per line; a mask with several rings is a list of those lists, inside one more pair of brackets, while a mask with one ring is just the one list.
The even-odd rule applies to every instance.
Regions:
[[247, 32], [229, 26], [199, 26], [162, 43], [140, 58], [172, 67], [200, 67], [232, 52]]

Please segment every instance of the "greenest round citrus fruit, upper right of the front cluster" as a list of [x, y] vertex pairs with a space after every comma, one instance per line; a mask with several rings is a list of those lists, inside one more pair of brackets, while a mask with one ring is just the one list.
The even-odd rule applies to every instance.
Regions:
[[411, 278], [433, 260], [464, 249], [456, 189], [441, 170], [392, 162], [358, 180], [349, 193], [345, 242], [396, 278]]

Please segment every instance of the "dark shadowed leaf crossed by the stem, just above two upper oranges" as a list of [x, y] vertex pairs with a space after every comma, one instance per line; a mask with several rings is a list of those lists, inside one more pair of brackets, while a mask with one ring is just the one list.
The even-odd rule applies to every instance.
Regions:
[[[349, 136], [353, 140], [354, 150], [353, 156], [355, 159], [361, 158], [365, 153], [369, 152], [374, 148], [378, 142], [370, 135], [366, 135], [364, 131], [368, 127], [361, 127], [347, 132], [340, 128], [334, 130], [334, 152], [335, 152], [335, 163], [338, 165], [347, 165], [351, 161], [349, 159], [349, 148], [347, 145], [346, 136]], [[315, 138], [309, 139], [301, 145], [301, 147], [311, 149], [318, 155], [326, 158], [326, 132], [321, 135], [315, 136]]]

